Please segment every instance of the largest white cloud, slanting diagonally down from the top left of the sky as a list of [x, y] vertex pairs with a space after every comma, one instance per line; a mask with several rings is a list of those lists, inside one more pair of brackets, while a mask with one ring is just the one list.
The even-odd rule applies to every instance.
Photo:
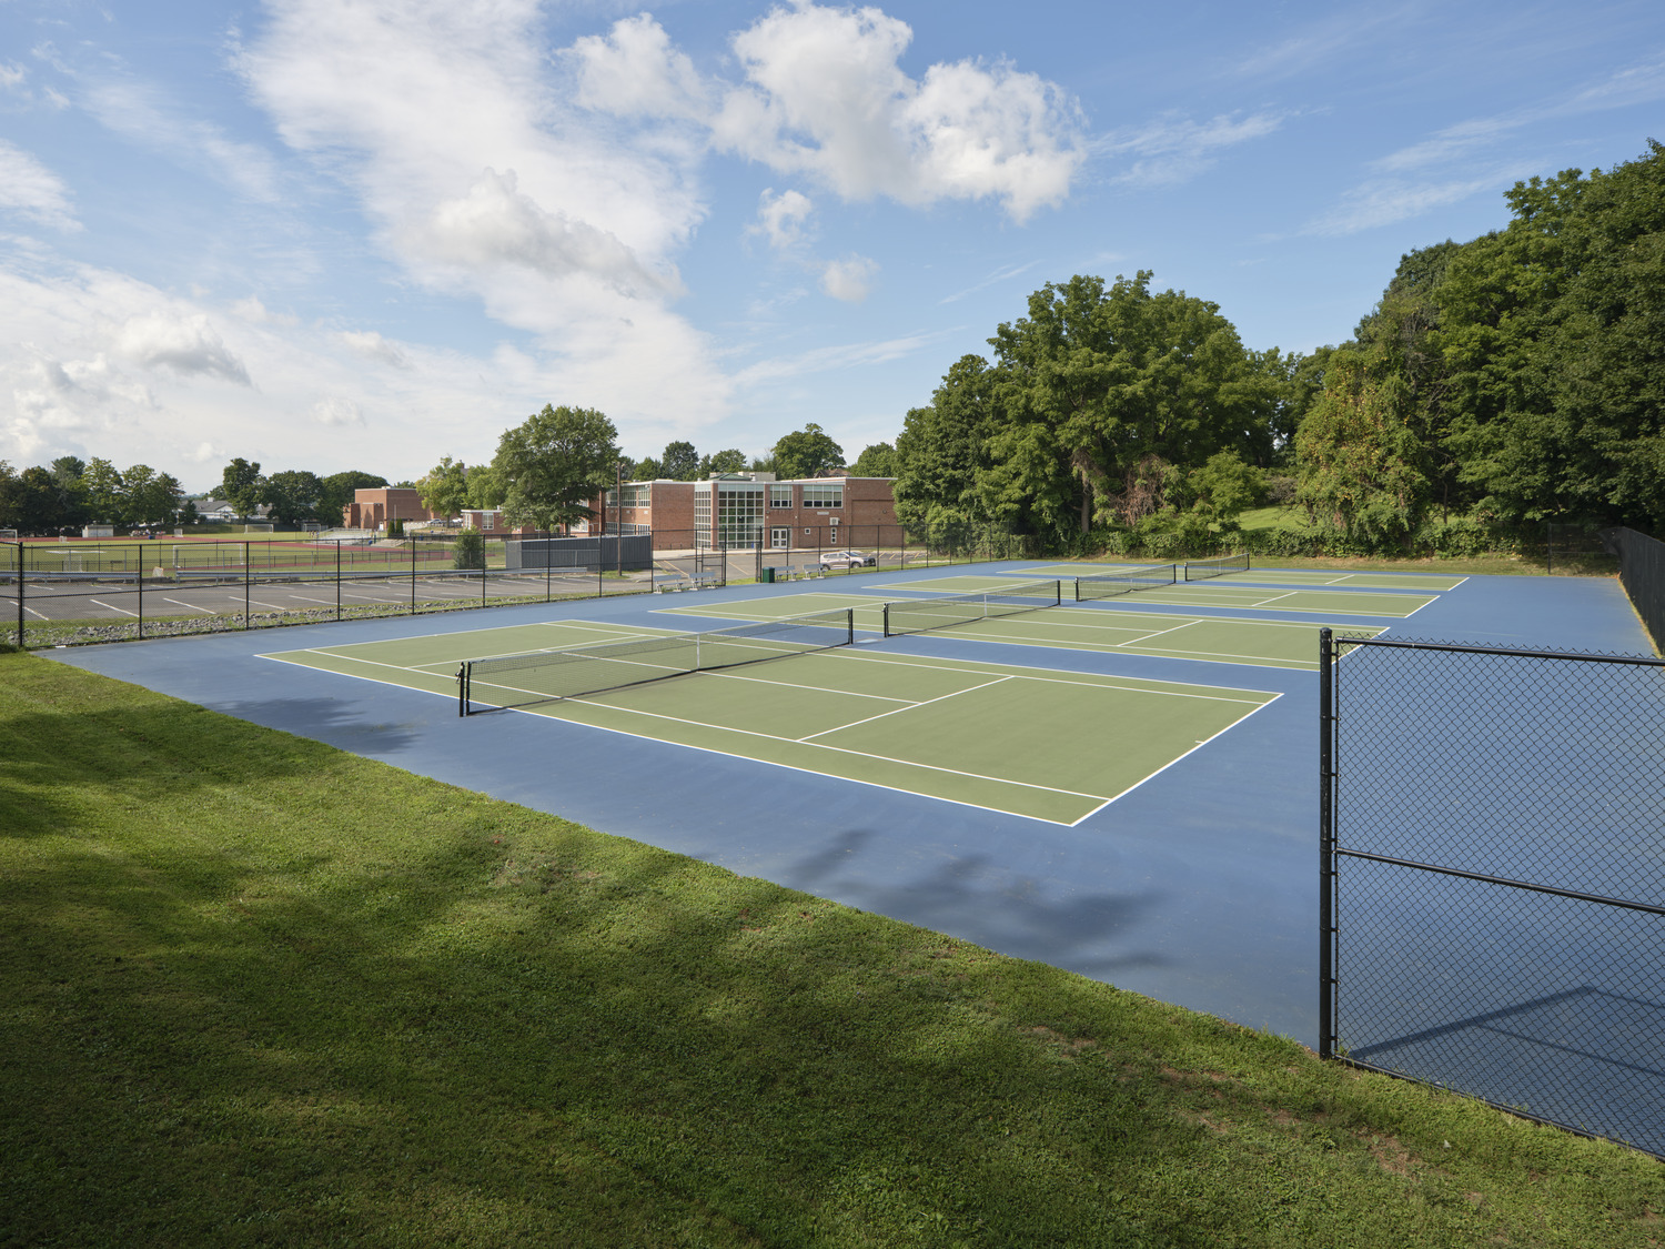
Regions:
[[543, 385], [558, 375], [554, 393], [621, 425], [669, 410], [694, 433], [726, 415], [729, 380], [669, 308], [673, 258], [704, 216], [694, 157], [563, 100], [536, 0], [268, 8], [238, 60], [253, 98], [411, 280], [529, 331]]

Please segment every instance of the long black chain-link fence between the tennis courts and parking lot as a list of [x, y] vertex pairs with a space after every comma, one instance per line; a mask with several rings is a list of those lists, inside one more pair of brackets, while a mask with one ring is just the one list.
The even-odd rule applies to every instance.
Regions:
[[696, 530], [623, 530], [3, 543], [0, 639], [127, 641], [1034, 555], [1032, 540], [986, 525], [793, 526], [786, 536], [759, 526], [728, 548]]

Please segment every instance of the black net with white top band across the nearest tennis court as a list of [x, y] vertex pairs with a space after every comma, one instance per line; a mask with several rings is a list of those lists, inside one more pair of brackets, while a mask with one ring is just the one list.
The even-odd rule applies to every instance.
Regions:
[[458, 714], [473, 714], [475, 703], [514, 708], [581, 698], [669, 676], [849, 646], [852, 641], [856, 611], [839, 608], [809, 616], [748, 621], [706, 633], [609, 641], [569, 651], [495, 654], [463, 663], [456, 674]]

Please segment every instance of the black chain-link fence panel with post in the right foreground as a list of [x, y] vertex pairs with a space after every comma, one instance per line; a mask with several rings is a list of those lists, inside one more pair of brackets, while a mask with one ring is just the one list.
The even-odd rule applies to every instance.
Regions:
[[1665, 661], [1320, 668], [1320, 1052], [1665, 1157]]

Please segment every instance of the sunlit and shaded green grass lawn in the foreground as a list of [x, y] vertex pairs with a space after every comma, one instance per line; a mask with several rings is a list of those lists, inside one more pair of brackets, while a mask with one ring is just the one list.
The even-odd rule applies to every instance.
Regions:
[[0, 1244], [1648, 1246], [1665, 1169], [0, 656]]

